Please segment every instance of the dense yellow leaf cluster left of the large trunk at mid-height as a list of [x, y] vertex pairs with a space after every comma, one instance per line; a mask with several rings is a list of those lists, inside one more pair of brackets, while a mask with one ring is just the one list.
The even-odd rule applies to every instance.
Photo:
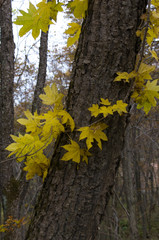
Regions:
[[58, 93], [56, 85], [45, 87], [44, 92], [45, 94], [39, 97], [43, 104], [52, 106], [53, 110], [41, 115], [36, 112], [32, 115], [27, 110], [26, 119], [18, 120], [20, 124], [25, 125], [26, 134], [11, 135], [14, 143], [6, 148], [11, 151], [9, 156], [14, 154], [19, 162], [25, 160], [24, 170], [27, 171], [27, 179], [33, 178], [34, 175], [43, 176], [43, 179], [46, 177], [50, 160], [45, 156], [44, 149], [65, 131], [65, 125], [69, 126], [71, 131], [75, 128], [74, 120], [63, 109], [63, 94]]

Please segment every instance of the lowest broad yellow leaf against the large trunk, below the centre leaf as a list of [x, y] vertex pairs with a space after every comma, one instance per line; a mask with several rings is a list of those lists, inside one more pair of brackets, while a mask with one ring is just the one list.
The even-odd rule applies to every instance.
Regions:
[[81, 149], [78, 143], [71, 140], [71, 144], [62, 146], [68, 152], [63, 155], [61, 160], [69, 161], [72, 159], [73, 162], [80, 163]]

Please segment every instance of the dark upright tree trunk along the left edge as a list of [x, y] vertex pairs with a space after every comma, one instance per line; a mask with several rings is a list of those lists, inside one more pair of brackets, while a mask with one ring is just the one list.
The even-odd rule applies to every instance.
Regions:
[[8, 152], [4, 149], [10, 143], [10, 134], [13, 134], [14, 130], [14, 42], [11, 13], [11, 0], [2, 1], [0, 4], [0, 201], [3, 217], [6, 210], [6, 184], [12, 175], [12, 161], [6, 161]]

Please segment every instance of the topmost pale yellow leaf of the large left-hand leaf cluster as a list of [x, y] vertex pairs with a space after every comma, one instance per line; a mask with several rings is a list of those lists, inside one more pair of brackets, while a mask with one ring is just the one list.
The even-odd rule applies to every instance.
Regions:
[[57, 108], [63, 108], [62, 106], [62, 99], [63, 94], [58, 93], [58, 89], [55, 83], [52, 86], [46, 86], [44, 88], [45, 94], [40, 94], [39, 97], [42, 99], [43, 104], [45, 105], [55, 105]]

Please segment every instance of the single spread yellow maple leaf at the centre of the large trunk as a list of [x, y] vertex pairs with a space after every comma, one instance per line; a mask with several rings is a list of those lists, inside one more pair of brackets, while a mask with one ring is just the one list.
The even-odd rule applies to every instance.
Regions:
[[81, 127], [78, 129], [78, 131], [82, 132], [80, 134], [79, 140], [86, 138], [86, 144], [89, 150], [92, 147], [92, 143], [95, 139], [98, 143], [99, 148], [102, 149], [101, 140], [108, 141], [106, 134], [103, 132], [103, 130], [107, 127], [108, 126], [105, 123], [93, 124], [90, 127]]

